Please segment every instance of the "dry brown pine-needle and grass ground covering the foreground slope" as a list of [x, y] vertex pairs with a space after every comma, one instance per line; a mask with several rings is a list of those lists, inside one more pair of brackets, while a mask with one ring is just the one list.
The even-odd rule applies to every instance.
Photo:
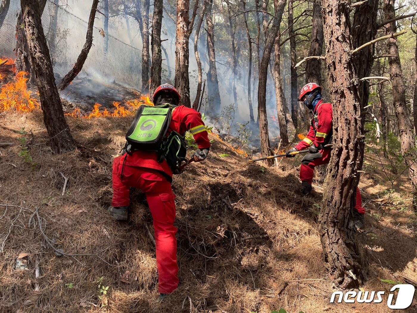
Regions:
[[[0, 312], [269, 313], [281, 307], [291, 313], [389, 312], [384, 301], [329, 304], [332, 282], [322, 259], [314, 205], [320, 204], [322, 187], [315, 185], [312, 197], [299, 196], [299, 158], [284, 159], [280, 168], [263, 172], [219, 141], [206, 162], [175, 177], [180, 287], [168, 301], [157, 303], [145, 197], [131, 192], [133, 214], [127, 223], [106, 212], [112, 158], [131, 119], [68, 121], [78, 149], [55, 155], [48, 149], [40, 112], [0, 117], [0, 142], [15, 143], [0, 148], [0, 203], [29, 209], [0, 206]], [[21, 127], [33, 132], [29, 150], [39, 163], [35, 169], [18, 156]], [[217, 156], [222, 153], [230, 156]], [[64, 195], [59, 172], [69, 179]], [[367, 223], [374, 227], [373, 233], [359, 236], [368, 274], [364, 289], [389, 291], [391, 285], [377, 277], [401, 280], [394, 274], [417, 280], [415, 216], [409, 210], [387, 211], [376, 194], [386, 187], [372, 173], [361, 186], [372, 213]], [[399, 186], [397, 192], [407, 194], [404, 189]], [[40, 220], [35, 215], [29, 223], [35, 207]], [[56, 249], [80, 256], [55, 255], [39, 222]], [[20, 253], [28, 253], [23, 258], [28, 270], [15, 270]], [[109, 286], [104, 301], [95, 283], [101, 276]], [[284, 281], [288, 286], [276, 296]]]

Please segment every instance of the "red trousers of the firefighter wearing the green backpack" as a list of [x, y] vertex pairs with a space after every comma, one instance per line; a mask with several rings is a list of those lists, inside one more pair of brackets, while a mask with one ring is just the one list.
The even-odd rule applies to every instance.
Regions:
[[158, 267], [159, 293], [171, 293], [178, 286], [177, 241], [175, 234], [175, 196], [171, 184], [160, 172], [146, 167], [125, 165], [120, 177], [122, 156], [113, 162], [113, 207], [128, 206], [129, 187], [141, 189], [148, 200], [153, 219]]

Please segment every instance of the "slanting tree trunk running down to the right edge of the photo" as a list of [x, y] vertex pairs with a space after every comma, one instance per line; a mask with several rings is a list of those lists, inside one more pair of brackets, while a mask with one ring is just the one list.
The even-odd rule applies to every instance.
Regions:
[[[391, 20], [395, 18], [394, 0], [384, 0], [384, 18]], [[387, 35], [394, 34], [397, 31], [396, 22], [387, 24]], [[405, 164], [408, 166], [408, 174], [413, 184], [414, 190], [417, 189], [417, 153], [414, 149], [414, 136], [410, 121], [410, 114], [405, 103], [405, 88], [402, 78], [402, 68], [399, 59], [397, 38], [387, 39], [387, 54], [389, 61], [389, 76], [391, 78], [392, 98], [394, 100], [394, 111], [397, 119], [399, 130], [399, 141], [401, 143], [401, 152], [404, 155]]]

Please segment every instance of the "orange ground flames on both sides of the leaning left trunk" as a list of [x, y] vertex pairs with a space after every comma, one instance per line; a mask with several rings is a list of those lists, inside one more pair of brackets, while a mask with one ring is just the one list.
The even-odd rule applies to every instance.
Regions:
[[[4, 61], [6, 61], [6, 59], [0, 59], [0, 64]], [[13, 60], [11, 61], [13, 62]], [[15, 110], [17, 112], [26, 113], [40, 109], [40, 103], [31, 96], [32, 91], [27, 88], [26, 82], [28, 81], [28, 78], [25, 77], [26, 75], [26, 72], [18, 72], [13, 81], [2, 85], [0, 92], [0, 112]], [[0, 79], [3, 78], [4, 75], [0, 73]], [[135, 114], [136, 109], [142, 104], [153, 106], [153, 103], [148, 96], [141, 96], [138, 99], [126, 101], [124, 104], [128, 106], [128, 108], [121, 105], [119, 102], [113, 102], [113, 106], [116, 109], [113, 112], [109, 112], [108, 109], [100, 110], [101, 104], [95, 103], [94, 109], [90, 114], [82, 114], [80, 109], [76, 108], [74, 111], [66, 113], [65, 115], [73, 118], [85, 119], [91, 119], [93, 117], [121, 117]]]

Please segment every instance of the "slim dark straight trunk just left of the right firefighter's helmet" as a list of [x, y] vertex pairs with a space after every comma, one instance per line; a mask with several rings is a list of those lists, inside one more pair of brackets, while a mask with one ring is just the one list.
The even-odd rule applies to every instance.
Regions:
[[288, 0], [288, 35], [289, 35], [289, 46], [290, 46], [290, 55], [291, 55], [291, 119], [294, 124], [294, 127], [298, 127], [298, 114], [299, 114], [299, 104], [298, 104], [298, 87], [297, 87], [297, 69], [295, 67], [297, 54], [296, 54], [296, 45], [295, 45], [295, 34], [294, 34], [294, 18], [293, 18], [293, 0]]

